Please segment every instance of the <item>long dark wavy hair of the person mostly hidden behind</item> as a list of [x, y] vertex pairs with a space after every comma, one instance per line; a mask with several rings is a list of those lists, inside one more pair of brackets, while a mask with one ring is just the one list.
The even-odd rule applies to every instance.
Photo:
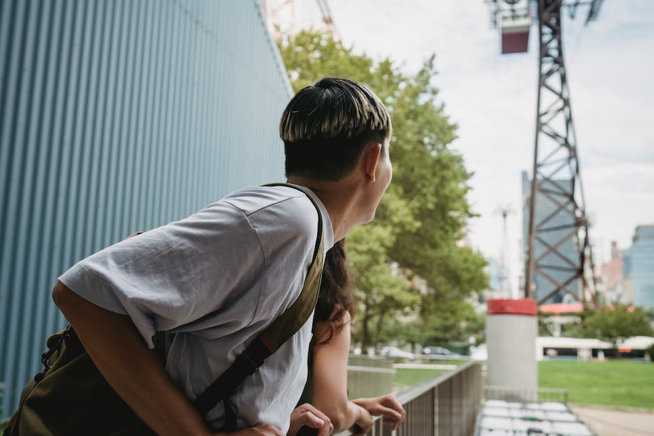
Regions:
[[315, 337], [312, 346], [324, 345], [332, 339], [345, 325], [343, 316], [349, 312], [354, 316], [354, 296], [350, 285], [350, 275], [345, 262], [345, 242], [337, 241], [327, 252], [325, 266], [320, 283], [320, 292], [316, 305], [316, 312], [313, 321], [329, 321], [329, 335], [326, 339], [315, 343], [319, 338]]

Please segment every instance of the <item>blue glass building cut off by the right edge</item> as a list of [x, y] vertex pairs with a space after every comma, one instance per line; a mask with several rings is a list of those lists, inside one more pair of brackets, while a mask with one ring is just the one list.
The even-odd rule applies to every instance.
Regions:
[[636, 227], [624, 252], [625, 294], [639, 307], [654, 308], [654, 225]]

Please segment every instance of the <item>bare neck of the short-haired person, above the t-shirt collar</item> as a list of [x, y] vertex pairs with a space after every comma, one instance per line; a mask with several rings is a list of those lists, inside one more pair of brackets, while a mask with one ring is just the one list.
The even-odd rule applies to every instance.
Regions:
[[325, 181], [308, 177], [291, 176], [287, 183], [306, 186], [317, 195], [331, 220], [334, 241], [340, 241], [360, 224], [357, 209], [359, 190], [348, 177], [339, 181]]

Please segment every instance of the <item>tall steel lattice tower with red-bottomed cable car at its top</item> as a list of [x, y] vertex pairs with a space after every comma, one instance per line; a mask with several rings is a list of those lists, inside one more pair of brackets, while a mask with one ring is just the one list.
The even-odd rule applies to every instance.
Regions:
[[570, 91], [561, 44], [561, 15], [588, 6], [585, 24], [598, 17], [602, 0], [486, 0], [491, 26], [500, 26], [502, 54], [527, 51], [536, 13], [539, 92], [529, 202], [525, 298], [538, 304], [579, 300], [596, 305], [589, 220], [580, 177]]

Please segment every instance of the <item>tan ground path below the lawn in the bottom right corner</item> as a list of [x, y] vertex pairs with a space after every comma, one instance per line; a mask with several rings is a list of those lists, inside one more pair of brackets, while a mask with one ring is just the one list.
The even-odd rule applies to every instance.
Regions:
[[570, 405], [599, 436], [654, 435], [654, 413]]

